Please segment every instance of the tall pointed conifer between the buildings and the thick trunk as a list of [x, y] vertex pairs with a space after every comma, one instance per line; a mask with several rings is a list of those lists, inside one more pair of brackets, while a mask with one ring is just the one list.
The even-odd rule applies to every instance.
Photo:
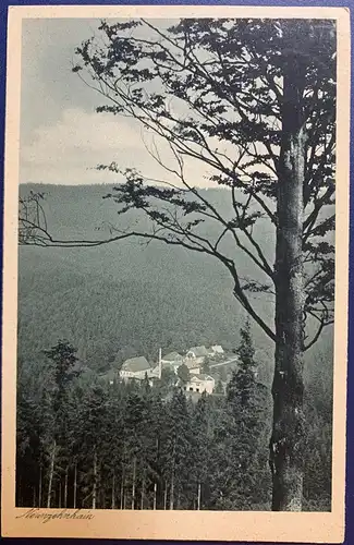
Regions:
[[[223, 491], [222, 502], [235, 509], [252, 509], [255, 504], [267, 507], [270, 480], [267, 460], [267, 399], [266, 388], [257, 382], [251, 327], [247, 322], [241, 329], [237, 349], [239, 366], [227, 388], [227, 412], [223, 435], [225, 473], [230, 491]], [[220, 435], [219, 435], [220, 438]], [[269, 507], [269, 505], [268, 505]]]

